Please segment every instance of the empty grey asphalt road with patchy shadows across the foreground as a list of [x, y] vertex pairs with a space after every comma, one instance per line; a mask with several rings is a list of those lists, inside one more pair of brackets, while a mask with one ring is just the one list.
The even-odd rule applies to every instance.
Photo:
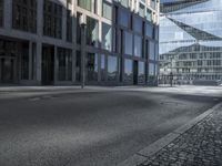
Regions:
[[0, 100], [0, 166], [114, 166], [220, 101], [142, 91]]

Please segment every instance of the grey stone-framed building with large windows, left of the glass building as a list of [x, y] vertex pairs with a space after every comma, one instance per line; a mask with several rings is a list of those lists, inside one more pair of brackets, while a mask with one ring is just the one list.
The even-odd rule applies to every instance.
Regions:
[[158, 0], [0, 0], [0, 84], [155, 84], [158, 35]]

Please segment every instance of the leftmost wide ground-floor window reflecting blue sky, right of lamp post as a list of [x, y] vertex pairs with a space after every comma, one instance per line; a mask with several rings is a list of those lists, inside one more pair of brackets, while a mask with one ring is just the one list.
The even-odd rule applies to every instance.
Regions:
[[108, 56], [108, 81], [118, 80], [118, 58]]

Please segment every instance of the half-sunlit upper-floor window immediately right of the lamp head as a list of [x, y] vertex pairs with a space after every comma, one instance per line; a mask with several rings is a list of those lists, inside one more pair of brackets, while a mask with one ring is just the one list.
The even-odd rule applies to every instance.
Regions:
[[99, 44], [99, 23], [90, 17], [87, 17], [87, 44], [92, 46]]

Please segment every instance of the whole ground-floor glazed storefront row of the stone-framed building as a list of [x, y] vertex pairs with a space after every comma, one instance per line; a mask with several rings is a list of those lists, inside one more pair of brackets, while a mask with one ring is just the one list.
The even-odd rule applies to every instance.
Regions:
[[157, 64], [97, 51], [0, 38], [0, 85], [154, 85]]

